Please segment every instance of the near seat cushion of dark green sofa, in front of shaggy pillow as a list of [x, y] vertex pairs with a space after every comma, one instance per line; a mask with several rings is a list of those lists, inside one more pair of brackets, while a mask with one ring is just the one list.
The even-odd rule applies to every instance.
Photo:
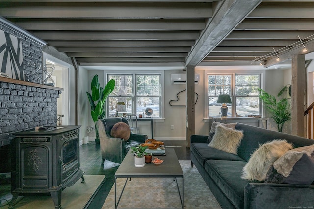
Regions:
[[204, 168], [224, 195], [235, 205], [244, 208], [244, 186], [249, 182], [241, 179], [245, 161], [207, 160]]

